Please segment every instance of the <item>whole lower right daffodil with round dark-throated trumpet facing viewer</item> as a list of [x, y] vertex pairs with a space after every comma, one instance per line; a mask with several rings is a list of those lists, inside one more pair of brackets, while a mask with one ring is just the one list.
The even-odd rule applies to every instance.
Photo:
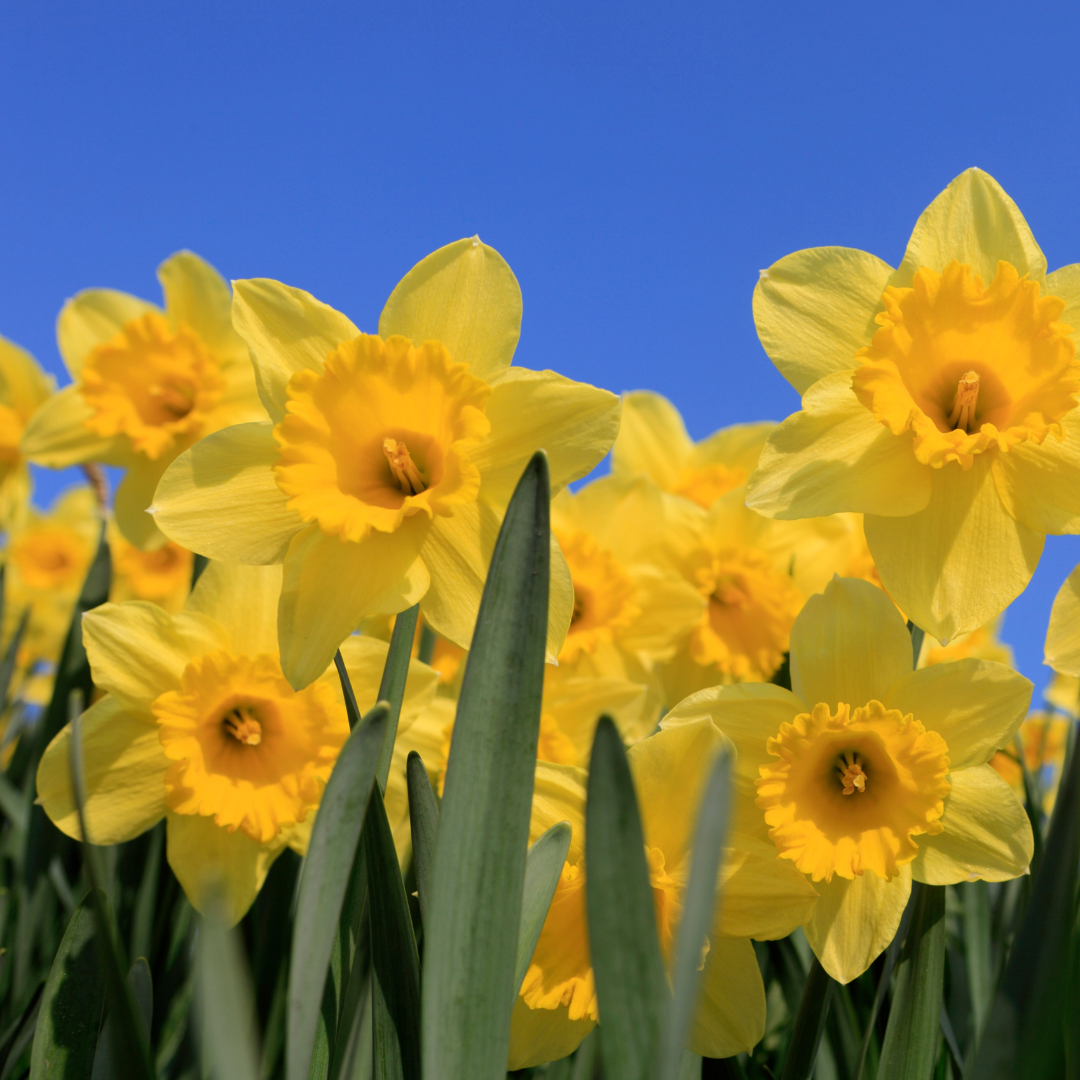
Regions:
[[988, 660], [913, 671], [895, 606], [851, 578], [807, 602], [791, 644], [791, 690], [704, 690], [661, 727], [707, 717], [734, 743], [739, 820], [755, 819], [781, 861], [813, 881], [821, 902], [806, 934], [847, 983], [892, 941], [913, 878], [1027, 870], [1027, 814], [987, 762], [1024, 719], [1031, 684]]

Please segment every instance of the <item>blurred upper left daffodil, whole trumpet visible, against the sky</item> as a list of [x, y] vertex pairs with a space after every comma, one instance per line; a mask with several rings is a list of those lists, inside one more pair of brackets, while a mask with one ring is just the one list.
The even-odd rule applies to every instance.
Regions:
[[105, 288], [68, 300], [56, 337], [72, 384], [33, 415], [22, 443], [31, 461], [53, 469], [102, 462], [126, 470], [117, 523], [139, 548], [163, 541], [145, 511], [177, 454], [262, 416], [226, 282], [191, 252], [165, 259], [158, 279], [164, 310]]

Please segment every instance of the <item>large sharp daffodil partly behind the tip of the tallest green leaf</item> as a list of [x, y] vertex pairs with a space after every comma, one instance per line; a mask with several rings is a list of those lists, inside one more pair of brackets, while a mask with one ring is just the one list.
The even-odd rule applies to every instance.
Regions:
[[[553, 491], [583, 476], [615, 441], [619, 400], [510, 366], [521, 289], [477, 238], [415, 266], [378, 335], [280, 282], [233, 289], [266, 411], [181, 455], [154, 497], [158, 524], [211, 558], [284, 563], [279, 634], [296, 687], [362, 619], [417, 602], [467, 647], [522, 470], [542, 448]], [[552, 554], [553, 659], [573, 594]]]

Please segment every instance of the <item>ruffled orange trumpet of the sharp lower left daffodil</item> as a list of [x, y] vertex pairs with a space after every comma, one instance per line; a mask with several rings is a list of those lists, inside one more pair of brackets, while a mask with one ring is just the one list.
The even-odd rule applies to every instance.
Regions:
[[192, 660], [151, 710], [165, 756], [165, 805], [267, 843], [319, 806], [349, 734], [322, 683], [294, 690], [276, 657], [220, 650]]

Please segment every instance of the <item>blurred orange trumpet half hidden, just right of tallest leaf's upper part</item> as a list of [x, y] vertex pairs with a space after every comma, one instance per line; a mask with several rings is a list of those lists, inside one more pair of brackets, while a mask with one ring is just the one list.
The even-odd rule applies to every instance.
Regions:
[[637, 586], [622, 564], [581, 529], [556, 530], [573, 580], [573, 615], [558, 659], [573, 663], [610, 645], [642, 613]]

